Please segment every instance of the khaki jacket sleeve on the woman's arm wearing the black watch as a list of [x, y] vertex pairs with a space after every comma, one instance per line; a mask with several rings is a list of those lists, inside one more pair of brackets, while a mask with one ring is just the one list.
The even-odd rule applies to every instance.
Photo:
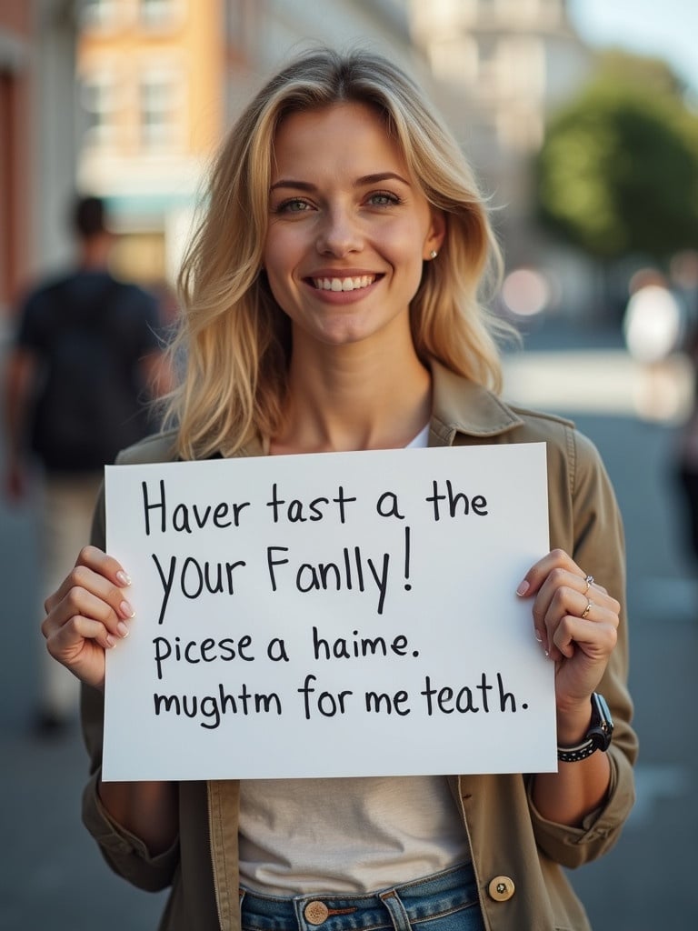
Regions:
[[[633, 764], [638, 738], [631, 727], [633, 706], [627, 689], [628, 622], [625, 603], [624, 531], [611, 482], [593, 443], [565, 427], [565, 449], [549, 444], [551, 546], [565, 549], [584, 572], [621, 602], [618, 641], [598, 691], [604, 695], [615, 724], [611, 748], [611, 786], [603, 805], [579, 829], [545, 820], [531, 802], [536, 842], [547, 857], [574, 868], [600, 857], [618, 840], [635, 802]], [[553, 501], [555, 496], [555, 501]]]

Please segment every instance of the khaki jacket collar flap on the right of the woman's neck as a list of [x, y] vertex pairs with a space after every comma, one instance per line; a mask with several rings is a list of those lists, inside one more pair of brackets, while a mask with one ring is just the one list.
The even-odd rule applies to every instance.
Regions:
[[451, 445], [456, 433], [495, 437], [523, 424], [512, 408], [482, 385], [457, 375], [435, 359], [431, 371], [431, 434], [436, 445]]

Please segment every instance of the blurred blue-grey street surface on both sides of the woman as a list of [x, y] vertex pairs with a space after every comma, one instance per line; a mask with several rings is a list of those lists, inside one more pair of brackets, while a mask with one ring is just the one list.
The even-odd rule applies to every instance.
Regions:
[[[570, 415], [597, 443], [627, 536], [638, 803], [611, 854], [571, 878], [595, 931], [690, 931], [698, 911], [698, 580], [672, 485], [677, 427], [638, 417], [638, 372], [617, 341], [599, 342], [575, 340], [570, 354], [539, 334], [527, 342], [531, 354], [507, 367], [508, 390], [522, 397], [528, 386], [525, 403]], [[152, 931], [163, 897], [114, 877], [81, 826], [86, 759], [77, 730], [54, 741], [31, 733], [35, 551], [34, 508], [0, 501], [0, 929]]]

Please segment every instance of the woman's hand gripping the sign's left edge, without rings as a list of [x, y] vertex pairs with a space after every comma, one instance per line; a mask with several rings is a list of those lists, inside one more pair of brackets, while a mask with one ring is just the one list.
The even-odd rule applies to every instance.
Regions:
[[133, 608], [124, 589], [129, 585], [119, 562], [96, 546], [85, 546], [71, 573], [45, 602], [41, 630], [48, 652], [94, 688], [104, 688], [105, 651], [128, 637]]

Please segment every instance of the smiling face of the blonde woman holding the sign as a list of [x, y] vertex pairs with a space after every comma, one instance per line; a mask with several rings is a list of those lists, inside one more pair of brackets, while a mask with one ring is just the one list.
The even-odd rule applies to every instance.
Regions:
[[294, 350], [409, 330], [423, 261], [444, 229], [369, 107], [339, 103], [278, 128], [263, 261]]

